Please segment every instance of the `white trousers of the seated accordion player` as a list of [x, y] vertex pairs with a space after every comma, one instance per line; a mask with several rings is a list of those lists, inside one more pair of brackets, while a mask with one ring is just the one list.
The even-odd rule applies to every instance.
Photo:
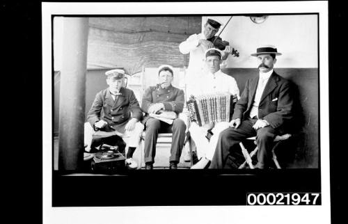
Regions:
[[212, 129], [212, 137], [208, 141], [205, 136], [207, 135], [206, 127], [199, 127], [196, 122], [191, 122], [189, 128], [191, 138], [196, 143], [197, 157], [198, 159], [206, 157], [210, 161], [212, 160], [219, 139], [219, 134], [221, 131], [227, 129], [229, 122], [218, 122], [215, 123], [214, 128]]

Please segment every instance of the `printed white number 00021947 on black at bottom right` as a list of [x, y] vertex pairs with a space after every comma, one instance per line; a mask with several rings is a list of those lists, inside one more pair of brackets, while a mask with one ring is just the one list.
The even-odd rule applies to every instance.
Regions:
[[321, 205], [320, 193], [247, 193], [246, 205]]

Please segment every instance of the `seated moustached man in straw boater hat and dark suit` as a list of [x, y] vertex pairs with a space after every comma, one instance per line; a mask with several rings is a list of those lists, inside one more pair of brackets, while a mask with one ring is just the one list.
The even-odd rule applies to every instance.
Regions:
[[273, 45], [257, 49], [259, 74], [246, 81], [241, 98], [235, 106], [230, 127], [221, 132], [209, 168], [224, 168], [228, 154], [233, 153], [245, 138], [256, 136], [258, 163], [255, 168], [268, 168], [271, 143], [284, 134], [293, 120], [291, 84], [274, 72], [276, 56], [281, 55]]

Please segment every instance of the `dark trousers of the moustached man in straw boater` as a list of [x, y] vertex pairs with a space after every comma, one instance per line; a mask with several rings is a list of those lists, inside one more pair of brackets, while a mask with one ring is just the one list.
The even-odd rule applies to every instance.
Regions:
[[258, 145], [258, 164], [256, 164], [255, 167], [267, 168], [271, 160], [272, 145], [277, 131], [271, 126], [263, 127], [255, 131], [253, 125], [256, 121], [257, 119], [248, 118], [243, 120], [237, 129], [229, 127], [222, 131], [209, 168], [223, 169], [228, 154], [233, 154], [233, 150], [238, 148], [233, 147], [233, 145], [239, 144], [242, 140], [252, 136], [256, 136]]

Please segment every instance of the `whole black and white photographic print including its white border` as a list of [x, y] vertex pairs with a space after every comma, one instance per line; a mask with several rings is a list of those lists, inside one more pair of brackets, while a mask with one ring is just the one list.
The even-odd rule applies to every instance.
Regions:
[[330, 223], [327, 42], [326, 1], [42, 3], [44, 221]]

